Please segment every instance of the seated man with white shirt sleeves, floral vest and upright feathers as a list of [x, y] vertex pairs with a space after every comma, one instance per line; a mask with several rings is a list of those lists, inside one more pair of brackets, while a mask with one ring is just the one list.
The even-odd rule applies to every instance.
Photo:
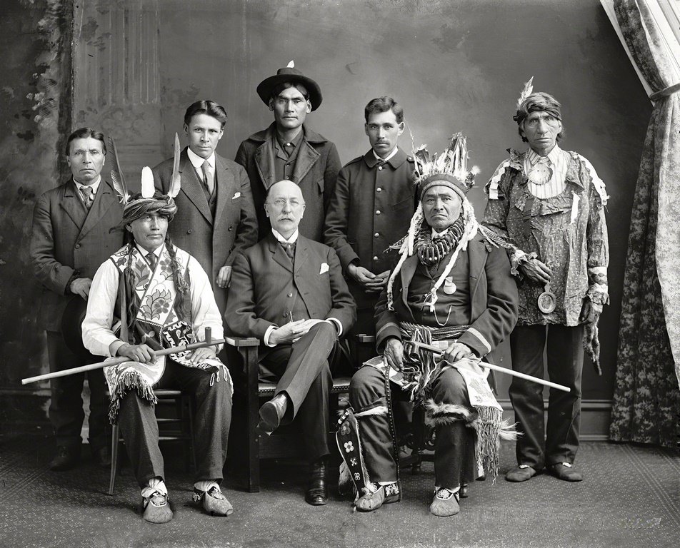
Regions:
[[[112, 143], [113, 144], [113, 143]], [[114, 154], [116, 153], [115, 146]], [[176, 140], [176, 158], [179, 141]], [[117, 155], [116, 155], [117, 164]], [[205, 340], [210, 328], [221, 339], [222, 320], [210, 280], [198, 261], [177, 248], [167, 233], [177, 211], [179, 173], [169, 193], [154, 191], [149, 168], [142, 171], [141, 193], [129, 196], [121, 175], [111, 172], [124, 202], [121, 225], [126, 243], [97, 270], [83, 322], [90, 352], [129, 359], [104, 369], [111, 392], [109, 417], [119, 422], [128, 455], [141, 487], [144, 519], [172, 519], [159, 450], [154, 387], [181, 387], [194, 395], [196, 482], [194, 502], [211, 515], [231, 514], [221, 493], [222, 467], [231, 422], [231, 377], [217, 360], [220, 345], [193, 352], [156, 356], [161, 347]]]

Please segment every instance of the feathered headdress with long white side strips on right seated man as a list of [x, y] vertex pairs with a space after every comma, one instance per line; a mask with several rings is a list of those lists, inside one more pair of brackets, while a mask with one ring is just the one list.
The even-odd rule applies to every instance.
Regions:
[[446, 186], [458, 193], [462, 201], [461, 215], [464, 221], [463, 234], [454, 249], [454, 253], [451, 255], [449, 263], [444, 268], [444, 272], [434, 284], [430, 293], [426, 295], [425, 303], [429, 305], [430, 310], [434, 310], [434, 304], [437, 301], [437, 290], [444, 283], [446, 276], [451, 272], [451, 268], [454, 268], [461, 250], [466, 249], [467, 243], [476, 235], [478, 228], [474, 209], [465, 195], [474, 185], [474, 176], [479, 173], [479, 168], [474, 166], [470, 171], [467, 169], [468, 149], [465, 136], [462, 133], [454, 133], [451, 136], [449, 146], [439, 157], [435, 154], [430, 158], [426, 145], [422, 145], [414, 150], [414, 159], [416, 164], [414, 183], [418, 187], [421, 202], [418, 204], [418, 208], [416, 208], [416, 213], [411, 218], [409, 232], [392, 246], [393, 248], [399, 248], [399, 255], [401, 256], [399, 257], [399, 263], [392, 270], [387, 282], [387, 306], [390, 310], [394, 310], [392, 286], [394, 285], [396, 275], [401, 270], [401, 266], [404, 265], [406, 258], [414, 254], [416, 234], [419, 233], [423, 223], [426, 222], [423, 214], [422, 197], [428, 188], [432, 186]]

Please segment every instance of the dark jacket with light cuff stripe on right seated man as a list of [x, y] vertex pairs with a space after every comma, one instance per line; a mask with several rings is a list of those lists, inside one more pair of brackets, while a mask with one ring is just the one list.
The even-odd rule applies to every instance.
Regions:
[[[517, 323], [517, 285], [510, 275], [510, 261], [506, 250], [488, 245], [479, 233], [469, 241], [467, 250], [461, 253], [469, 254], [471, 324], [458, 342], [469, 346], [476, 355], [484, 357], [510, 334]], [[408, 298], [409, 284], [417, 265], [418, 256], [412, 255], [399, 270], [392, 290], [394, 311], [387, 308], [387, 291], [384, 290], [380, 295], [376, 305], [376, 344], [379, 350], [382, 350], [389, 337], [401, 340], [400, 321], [415, 321]], [[457, 265], [454, 265], [455, 268]], [[437, 310], [437, 315], [446, 318], [446, 312]]]

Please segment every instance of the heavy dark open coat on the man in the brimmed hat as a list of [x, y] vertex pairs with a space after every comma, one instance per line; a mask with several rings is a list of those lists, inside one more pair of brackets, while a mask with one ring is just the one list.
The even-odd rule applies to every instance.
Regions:
[[[299, 231], [307, 238], [322, 242], [324, 218], [341, 166], [340, 156], [335, 145], [324, 136], [307, 126], [302, 126], [302, 131], [304, 135], [299, 144], [301, 149], [291, 178], [291, 181], [300, 187], [306, 203]], [[271, 123], [269, 128], [253, 133], [241, 143], [236, 153], [236, 162], [246, 168], [250, 178], [260, 238], [264, 238], [271, 231], [269, 218], [264, 213], [264, 199], [269, 187], [277, 182], [274, 180], [276, 174], [272, 138], [276, 138], [275, 123]]]

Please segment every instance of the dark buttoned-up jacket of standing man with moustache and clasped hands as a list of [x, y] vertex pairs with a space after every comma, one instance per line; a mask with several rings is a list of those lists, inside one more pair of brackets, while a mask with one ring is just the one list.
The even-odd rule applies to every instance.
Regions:
[[[354, 158], [338, 174], [326, 214], [324, 239], [340, 258], [343, 271], [356, 261], [374, 274], [396, 264], [396, 250], [385, 253], [409, 230], [416, 210], [414, 160], [399, 149], [384, 166], [369, 150]], [[348, 279], [359, 308], [373, 308], [378, 295]]]

